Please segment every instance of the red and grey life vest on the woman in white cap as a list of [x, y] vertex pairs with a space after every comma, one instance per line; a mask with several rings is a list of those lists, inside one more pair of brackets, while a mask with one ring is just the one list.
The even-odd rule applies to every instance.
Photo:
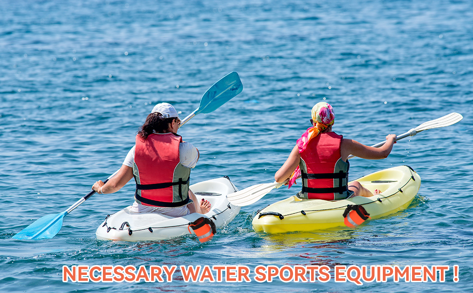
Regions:
[[137, 184], [135, 201], [144, 206], [175, 208], [189, 202], [191, 169], [180, 164], [175, 133], [153, 133], [135, 145], [133, 176]]

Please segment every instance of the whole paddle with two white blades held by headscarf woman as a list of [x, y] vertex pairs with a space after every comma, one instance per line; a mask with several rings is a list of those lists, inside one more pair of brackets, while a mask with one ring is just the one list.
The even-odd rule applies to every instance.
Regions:
[[[403, 133], [399, 136], [397, 136], [396, 141], [401, 140], [403, 138], [406, 138], [408, 136], [414, 136], [417, 133], [428, 130], [428, 129], [433, 129], [433, 128], [439, 128], [439, 127], [445, 127], [445, 126], [451, 126], [460, 120], [463, 119], [463, 116], [461, 116], [458, 113], [450, 113], [448, 115], [445, 115], [443, 117], [437, 118], [435, 120], [431, 120], [425, 123], [422, 123], [421, 125], [412, 128], [406, 133]], [[386, 141], [378, 143], [373, 145], [373, 147], [379, 147], [384, 145]], [[353, 158], [355, 156], [350, 155], [348, 158]], [[263, 196], [265, 196], [267, 193], [269, 193], [271, 190], [274, 188], [279, 188], [283, 183], [277, 183], [276, 181], [273, 183], [265, 183], [265, 184], [256, 184], [254, 186], [250, 186], [248, 188], [242, 189], [238, 192], [231, 193], [227, 195], [228, 200], [230, 201], [231, 204], [235, 206], [249, 206], [251, 204], [256, 203], [259, 199], [261, 199]]]

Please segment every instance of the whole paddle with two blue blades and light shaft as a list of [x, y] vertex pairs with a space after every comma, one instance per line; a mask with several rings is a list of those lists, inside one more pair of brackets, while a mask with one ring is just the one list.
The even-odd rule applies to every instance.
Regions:
[[[200, 105], [198, 108], [187, 116], [179, 125], [183, 126], [187, 121], [192, 117], [200, 113], [210, 113], [215, 111], [218, 107], [230, 101], [233, 97], [239, 94], [243, 90], [243, 85], [241, 84], [240, 78], [238, 77], [237, 72], [231, 72], [226, 76], [222, 77], [217, 83], [212, 85], [200, 99]], [[107, 180], [103, 183], [106, 183], [110, 178], [112, 178], [118, 171], [110, 175]], [[13, 239], [51, 239], [53, 238], [62, 227], [62, 219], [71, 211], [79, 207], [83, 202], [85, 202], [89, 197], [95, 193], [94, 190], [87, 193], [86, 196], [78, 200], [74, 205], [69, 209], [57, 214], [45, 215], [33, 224], [29, 225], [25, 229], [21, 230], [19, 233], [15, 234]]]

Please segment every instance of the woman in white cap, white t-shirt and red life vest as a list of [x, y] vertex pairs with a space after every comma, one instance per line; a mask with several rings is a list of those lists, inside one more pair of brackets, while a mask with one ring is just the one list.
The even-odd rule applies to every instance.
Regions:
[[191, 168], [196, 166], [199, 152], [177, 135], [179, 124], [171, 104], [156, 105], [139, 128], [135, 146], [118, 173], [106, 184], [97, 181], [92, 189], [99, 194], [113, 193], [135, 178], [134, 212], [158, 212], [172, 217], [207, 213], [210, 203], [198, 202], [189, 188]]

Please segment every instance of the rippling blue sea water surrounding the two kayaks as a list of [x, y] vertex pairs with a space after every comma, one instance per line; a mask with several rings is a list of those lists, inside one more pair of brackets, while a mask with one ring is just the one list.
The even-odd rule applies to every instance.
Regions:
[[[473, 4], [468, 0], [4, 1], [0, 5], [1, 292], [471, 292], [473, 290]], [[351, 178], [409, 165], [412, 205], [356, 230], [267, 235], [256, 210], [211, 242], [95, 238], [132, 203], [133, 184], [95, 195], [51, 240], [11, 237], [67, 209], [118, 169], [153, 105], [185, 117], [237, 71], [241, 94], [179, 134], [200, 151], [192, 183], [274, 180], [311, 107], [334, 106], [334, 130], [372, 145], [450, 112], [464, 119], [397, 143], [385, 160], [353, 159]], [[73, 265], [448, 265], [445, 282], [63, 283]], [[79, 287], [80, 286], [80, 287]]]

